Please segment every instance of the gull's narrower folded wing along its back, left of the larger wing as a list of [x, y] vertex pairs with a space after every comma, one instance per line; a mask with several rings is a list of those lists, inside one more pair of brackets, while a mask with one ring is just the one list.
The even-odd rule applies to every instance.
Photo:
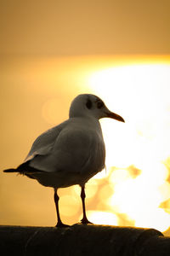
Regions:
[[59, 136], [59, 132], [63, 129], [63, 127], [65, 127], [66, 123], [67, 121], [43, 132], [42, 135], [37, 137], [35, 142], [32, 144], [31, 150], [27, 154], [24, 162], [34, 159], [37, 155], [50, 154], [53, 150], [56, 138]]

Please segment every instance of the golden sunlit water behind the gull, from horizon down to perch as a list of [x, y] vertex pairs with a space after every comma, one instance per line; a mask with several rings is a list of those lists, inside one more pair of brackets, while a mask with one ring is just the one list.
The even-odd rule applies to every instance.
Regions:
[[[1, 101], [2, 169], [19, 165], [41, 132], [68, 118], [74, 96], [94, 93], [126, 123], [100, 120], [106, 167], [86, 185], [89, 220], [167, 230], [170, 60], [156, 56], [82, 56], [19, 61], [13, 70], [8, 66], [3, 70]], [[2, 224], [54, 225], [50, 189], [27, 177], [0, 175]], [[82, 216], [80, 188], [59, 189], [59, 197], [63, 221], [78, 222]]]

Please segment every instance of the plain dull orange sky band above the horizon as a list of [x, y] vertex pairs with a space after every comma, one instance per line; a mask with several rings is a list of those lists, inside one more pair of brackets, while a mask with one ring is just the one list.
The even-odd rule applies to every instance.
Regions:
[[0, 53], [170, 54], [169, 0], [0, 3]]

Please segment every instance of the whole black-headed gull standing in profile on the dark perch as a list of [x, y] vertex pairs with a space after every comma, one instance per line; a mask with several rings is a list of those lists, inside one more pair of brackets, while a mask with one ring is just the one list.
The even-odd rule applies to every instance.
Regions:
[[68, 227], [59, 215], [59, 188], [80, 185], [82, 199], [82, 224], [88, 221], [85, 207], [85, 184], [105, 168], [105, 143], [99, 119], [124, 119], [111, 112], [105, 103], [92, 94], [78, 95], [72, 102], [69, 119], [45, 131], [31, 146], [26, 160], [16, 169], [3, 172], [18, 172], [37, 179], [43, 186], [54, 188], [54, 203], [57, 213], [56, 227]]

